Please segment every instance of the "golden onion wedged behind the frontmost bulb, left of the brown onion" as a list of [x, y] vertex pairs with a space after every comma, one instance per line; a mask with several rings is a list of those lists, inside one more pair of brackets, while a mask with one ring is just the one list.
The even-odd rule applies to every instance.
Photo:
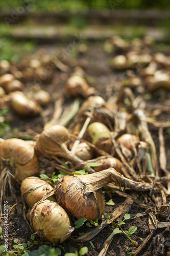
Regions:
[[[50, 194], [53, 190], [54, 188], [50, 185], [50, 182], [38, 177], [28, 177], [22, 181], [20, 186], [23, 200], [25, 200], [31, 207], [43, 197]], [[50, 196], [48, 200], [55, 201], [55, 198]]]

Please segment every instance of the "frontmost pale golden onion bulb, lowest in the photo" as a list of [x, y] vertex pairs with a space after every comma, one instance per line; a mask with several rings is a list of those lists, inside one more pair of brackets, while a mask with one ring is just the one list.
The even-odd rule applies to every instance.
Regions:
[[56, 202], [44, 200], [30, 212], [31, 226], [42, 240], [62, 243], [69, 238], [71, 227], [66, 211]]

